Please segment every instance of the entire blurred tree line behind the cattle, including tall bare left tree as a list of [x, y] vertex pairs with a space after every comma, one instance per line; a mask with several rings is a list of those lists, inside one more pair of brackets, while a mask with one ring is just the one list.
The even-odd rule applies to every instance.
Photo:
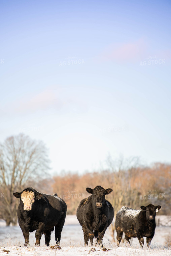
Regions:
[[93, 172], [61, 171], [48, 174], [49, 159], [42, 141], [19, 134], [0, 143], [0, 218], [6, 225], [16, 225], [18, 200], [14, 192], [26, 187], [53, 194], [67, 203], [67, 214], [76, 214], [79, 202], [88, 197], [86, 188], [101, 185], [113, 192], [106, 196], [114, 207], [114, 214], [122, 206], [140, 209], [141, 205], [162, 205], [161, 214], [169, 215], [171, 206], [171, 164], [142, 165], [139, 158], [106, 159], [106, 168]]

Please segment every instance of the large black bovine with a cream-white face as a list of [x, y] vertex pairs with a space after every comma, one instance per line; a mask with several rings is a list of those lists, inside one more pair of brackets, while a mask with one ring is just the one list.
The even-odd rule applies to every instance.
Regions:
[[45, 244], [49, 246], [50, 233], [54, 230], [54, 226], [56, 244], [59, 245], [65, 223], [66, 203], [57, 194], [46, 195], [33, 188], [26, 188], [13, 195], [20, 198], [17, 214], [25, 238], [25, 246], [29, 245], [29, 232], [34, 230], [36, 230], [35, 245], [40, 245], [41, 235], [44, 233]]

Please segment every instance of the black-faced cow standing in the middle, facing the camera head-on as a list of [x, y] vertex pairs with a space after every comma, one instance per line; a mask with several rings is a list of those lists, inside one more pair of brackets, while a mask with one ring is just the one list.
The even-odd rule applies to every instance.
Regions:
[[77, 209], [77, 219], [82, 226], [84, 234], [84, 244], [93, 244], [95, 237], [97, 242], [102, 245], [103, 236], [106, 228], [110, 225], [114, 217], [111, 203], [105, 199], [105, 195], [112, 192], [111, 188], [104, 189], [97, 186], [94, 189], [86, 188], [92, 195], [81, 200]]

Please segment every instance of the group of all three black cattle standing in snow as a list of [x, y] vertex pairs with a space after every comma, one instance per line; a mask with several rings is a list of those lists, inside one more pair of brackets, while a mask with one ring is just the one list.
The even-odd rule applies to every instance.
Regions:
[[[114, 217], [111, 203], [105, 199], [105, 195], [112, 192], [111, 188], [104, 189], [96, 186], [94, 189], [86, 188], [91, 195], [81, 200], [77, 209], [77, 219], [82, 226], [84, 244], [93, 245], [95, 242], [103, 247], [103, 236]], [[67, 205], [56, 193], [46, 195], [37, 192], [33, 188], [26, 188], [22, 192], [13, 195], [20, 198], [18, 207], [19, 225], [25, 238], [25, 246], [29, 245], [29, 233], [36, 230], [35, 245], [40, 245], [42, 234], [45, 236], [45, 244], [49, 246], [51, 232], [55, 229], [56, 245], [59, 246], [61, 232], [65, 223]], [[123, 206], [116, 214], [115, 228], [117, 232], [117, 246], [119, 246], [123, 232], [125, 241], [130, 243], [131, 237], [137, 237], [141, 248], [144, 238], [149, 247], [155, 234], [156, 212], [161, 206], [149, 204], [140, 206], [141, 210], [134, 210]]]

